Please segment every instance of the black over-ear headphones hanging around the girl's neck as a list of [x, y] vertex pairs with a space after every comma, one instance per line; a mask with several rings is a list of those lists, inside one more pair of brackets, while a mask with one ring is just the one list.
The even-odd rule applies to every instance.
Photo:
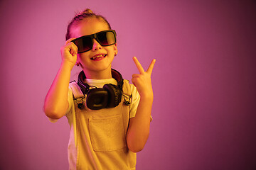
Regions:
[[[82, 80], [86, 79], [85, 73], [82, 71], [78, 75], [78, 86], [83, 94], [87, 94], [86, 106], [91, 110], [99, 110], [102, 108], [114, 108], [119, 105], [122, 99], [122, 86], [124, 80], [117, 70], [111, 69], [112, 77], [117, 80], [117, 85], [105, 84], [103, 88], [97, 88], [85, 84]], [[83, 104], [78, 104], [78, 108], [82, 109]]]

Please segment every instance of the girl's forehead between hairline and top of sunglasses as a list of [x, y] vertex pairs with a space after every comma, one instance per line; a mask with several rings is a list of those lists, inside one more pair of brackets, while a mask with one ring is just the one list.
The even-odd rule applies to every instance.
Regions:
[[71, 33], [74, 38], [78, 38], [83, 35], [98, 33], [102, 30], [109, 30], [105, 21], [98, 18], [87, 18], [73, 26]]

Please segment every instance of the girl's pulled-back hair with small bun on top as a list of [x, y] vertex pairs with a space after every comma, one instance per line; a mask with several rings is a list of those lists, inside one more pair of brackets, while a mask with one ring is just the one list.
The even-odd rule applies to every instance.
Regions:
[[86, 8], [84, 11], [77, 13], [76, 16], [68, 24], [67, 33], [65, 35], [66, 40], [68, 40], [72, 37], [72, 35], [70, 34], [70, 29], [75, 24], [78, 24], [78, 23], [80, 23], [80, 21], [87, 19], [87, 18], [97, 18], [99, 20], [105, 21], [105, 23], [107, 23], [107, 26], [109, 27], [109, 29], [111, 29], [110, 23], [107, 22], [107, 19], [105, 17], [97, 15], [97, 14], [93, 13], [92, 10], [90, 10], [89, 8]]

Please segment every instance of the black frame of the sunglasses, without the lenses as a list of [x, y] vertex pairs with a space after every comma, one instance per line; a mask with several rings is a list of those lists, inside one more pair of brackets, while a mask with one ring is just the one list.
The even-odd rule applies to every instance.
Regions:
[[[117, 33], [115, 32], [115, 30], [102, 30], [98, 33], [94, 33], [94, 34], [91, 34], [91, 35], [84, 35], [84, 36], [81, 36], [79, 38], [75, 38], [75, 40], [72, 40], [71, 42], [73, 42], [75, 44], [75, 41], [77, 40], [80, 40], [80, 39], [83, 39], [85, 37], [90, 37], [91, 40], [92, 40], [92, 44], [91, 44], [91, 47], [89, 50], [82, 50], [81, 52], [78, 52], [78, 53], [82, 53], [82, 52], [87, 52], [87, 51], [90, 51], [92, 50], [92, 47], [93, 47], [93, 39], [97, 40], [97, 42], [99, 42], [100, 45], [102, 45], [102, 43], [100, 42], [100, 40], [97, 38], [97, 35], [100, 34], [100, 33], [106, 33], [106, 32], [112, 32], [114, 33], [114, 43], [110, 44], [110, 45], [114, 45], [115, 43], [117, 43]], [[76, 45], [76, 44], [75, 44]], [[106, 47], [106, 46], [110, 46], [110, 45], [102, 45], [103, 47]]]

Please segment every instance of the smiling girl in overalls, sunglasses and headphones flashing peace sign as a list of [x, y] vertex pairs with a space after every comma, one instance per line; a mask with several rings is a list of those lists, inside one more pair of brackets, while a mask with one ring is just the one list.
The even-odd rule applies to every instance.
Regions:
[[[65, 115], [70, 124], [70, 169], [135, 169], [136, 152], [149, 137], [153, 90], [151, 72], [133, 58], [139, 74], [132, 84], [112, 69], [116, 33], [103, 16], [86, 9], [68, 25], [62, 62], [44, 111], [50, 120]], [[70, 81], [74, 65], [82, 67]]]

